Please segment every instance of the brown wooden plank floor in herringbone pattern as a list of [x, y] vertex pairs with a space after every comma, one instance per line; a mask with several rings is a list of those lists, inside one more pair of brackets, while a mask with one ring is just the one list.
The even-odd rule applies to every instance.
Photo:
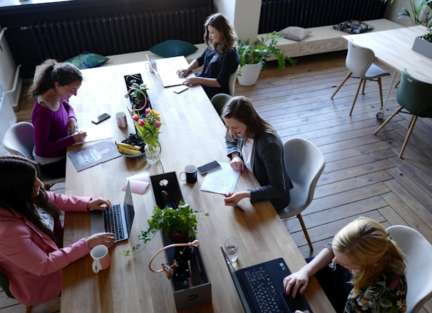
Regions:
[[[237, 83], [235, 95], [249, 97], [282, 141], [303, 137], [324, 154], [326, 166], [314, 201], [302, 213], [313, 255], [356, 216], [375, 218], [385, 227], [411, 226], [432, 242], [432, 120], [418, 120], [403, 159], [399, 159], [409, 116], [395, 117], [374, 135], [381, 124], [375, 116], [380, 107], [376, 83], [367, 83], [366, 94], [359, 95], [351, 117], [358, 80], [350, 78], [330, 100], [347, 73], [345, 56], [346, 52], [339, 52], [298, 58], [296, 68], [284, 70], [269, 63], [255, 85]], [[384, 99], [390, 83], [391, 78], [384, 78]], [[21, 107], [19, 120], [29, 120], [31, 107]], [[384, 118], [396, 107], [393, 88]], [[310, 256], [297, 218], [284, 223], [304, 256]], [[10, 301], [0, 298], [0, 307]], [[4, 312], [24, 312], [24, 308], [0, 309]], [[421, 312], [432, 313], [432, 301]]]

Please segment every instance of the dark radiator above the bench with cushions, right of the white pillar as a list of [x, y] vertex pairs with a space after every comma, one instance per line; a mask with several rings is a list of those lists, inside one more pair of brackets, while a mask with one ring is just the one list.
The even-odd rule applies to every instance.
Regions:
[[383, 18], [385, 9], [381, 0], [262, 0], [258, 33]]

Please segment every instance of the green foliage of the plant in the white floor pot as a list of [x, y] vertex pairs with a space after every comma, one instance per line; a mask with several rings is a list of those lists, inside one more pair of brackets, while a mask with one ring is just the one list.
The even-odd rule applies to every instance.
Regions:
[[[267, 33], [267, 36], [262, 37], [261, 41], [255, 41], [253, 45], [250, 45], [249, 39], [247, 41], [239, 41], [238, 53], [240, 56], [240, 68], [245, 64], [261, 64], [261, 69], [264, 68], [265, 59], [269, 57], [277, 58], [277, 66], [282, 69], [285, 68], [287, 62], [295, 66], [297, 60], [293, 60], [285, 56], [279, 48], [277, 48], [277, 38], [284, 38], [281, 34], [276, 31]], [[239, 71], [241, 76], [241, 71]]]

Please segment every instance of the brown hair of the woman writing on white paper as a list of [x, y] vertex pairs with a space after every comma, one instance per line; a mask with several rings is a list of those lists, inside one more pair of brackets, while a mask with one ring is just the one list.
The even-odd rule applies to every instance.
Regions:
[[[245, 139], [259, 137], [264, 133], [277, 135], [272, 124], [259, 116], [247, 97], [232, 97], [223, 107], [221, 116], [222, 119], [233, 118], [245, 124], [247, 127]], [[229, 127], [227, 127], [226, 137], [229, 140], [238, 139], [235, 134], [231, 134]]]

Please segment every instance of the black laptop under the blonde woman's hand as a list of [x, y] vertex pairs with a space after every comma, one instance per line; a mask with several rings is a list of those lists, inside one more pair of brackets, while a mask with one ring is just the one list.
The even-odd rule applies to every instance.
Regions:
[[284, 259], [278, 258], [235, 270], [223, 248], [220, 249], [246, 313], [295, 313], [297, 309], [312, 313], [302, 295], [298, 294], [292, 299], [285, 294], [282, 281], [291, 272]]

